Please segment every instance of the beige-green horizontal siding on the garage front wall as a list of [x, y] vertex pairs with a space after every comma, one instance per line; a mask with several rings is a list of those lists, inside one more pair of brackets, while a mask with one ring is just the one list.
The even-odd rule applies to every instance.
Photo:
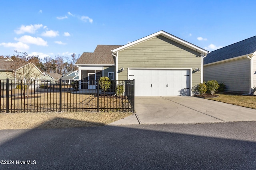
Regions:
[[[119, 80], [127, 80], [128, 68], [192, 68], [201, 69], [201, 55], [163, 36], [154, 37], [118, 52]], [[201, 72], [192, 73], [192, 86], [200, 83]]]

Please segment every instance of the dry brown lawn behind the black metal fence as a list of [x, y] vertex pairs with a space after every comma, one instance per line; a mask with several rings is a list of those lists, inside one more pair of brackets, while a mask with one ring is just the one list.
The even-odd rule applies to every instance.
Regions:
[[[97, 111], [99, 98], [99, 111], [126, 111], [130, 108], [127, 99], [118, 96], [95, 96], [83, 93], [62, 93], [62, 111]], [[6, 98], [0, 99], [1, 111], [6, 108]], [[46, 112], [59, 111], [60, 93], [37, 93], [27, 96], [10, 97], [9, 108], [12, 112]], [[110, 108], [116, 108], [110, 109]], [[124, 108], [124, 109], [120, 109]], [[13, 110], [11, 110], [13, 109]]]

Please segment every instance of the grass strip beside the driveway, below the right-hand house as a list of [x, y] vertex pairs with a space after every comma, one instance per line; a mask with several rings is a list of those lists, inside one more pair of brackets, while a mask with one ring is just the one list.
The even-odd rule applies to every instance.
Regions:
[[256, 96], [243, 96], [236, 94], [218, 94], [218, 96], [218, 98], [206, 99], [256, 109]]

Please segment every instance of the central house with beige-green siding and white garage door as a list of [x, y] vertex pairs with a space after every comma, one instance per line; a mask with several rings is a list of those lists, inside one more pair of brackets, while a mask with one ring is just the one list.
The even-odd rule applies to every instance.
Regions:
[[[209, 52], [165, 31], [126, 45], [98, 45], [77, 60], [79, 79], [135, 80], [135, 96], [191, 96]], [[89, 86], [97, 88], [96, 84]], [[86, 88], [86, 86], [84, 86]]]

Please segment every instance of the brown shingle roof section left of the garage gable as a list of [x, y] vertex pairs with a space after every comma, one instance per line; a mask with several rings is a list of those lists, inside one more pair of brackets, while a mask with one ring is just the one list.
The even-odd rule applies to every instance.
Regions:
[[93, 53], [83, 53], [76, 61], [76, 65], [114, 65], [111, 50], [121, 45], [97, 45]]

